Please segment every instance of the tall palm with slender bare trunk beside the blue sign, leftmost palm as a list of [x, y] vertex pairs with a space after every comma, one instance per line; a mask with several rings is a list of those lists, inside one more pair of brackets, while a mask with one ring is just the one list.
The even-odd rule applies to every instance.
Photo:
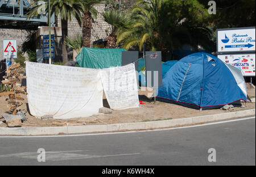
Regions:
[[[31, 10], [28, 12], [27, 19], [32, 18], [34, 16], [38, 16], [38, 11], [42, 9], [43, 5], [38, 5], [38, 2], [42, 2], [42, 0], [35, 0], [34, 3], [31, 4]], [[44, 0], [46, 7], [46, 13], [48, 12], [48, 1]], [[60, 15], [61, 20], [61, 45], [62, 45], [62, 59], [63, 62], [68, 62], [68, 51], [67, 45], [65, 44], [66, 37], [68, 36], [68, 21], [71, 21], [71, 17], [74, 16], [81, 26], [82, 16], [81, 12], [84, 11], [84, 6], [82, 5], [80, 0], [51, 0], [51, 15], [55, 12], [55, 15]]]

